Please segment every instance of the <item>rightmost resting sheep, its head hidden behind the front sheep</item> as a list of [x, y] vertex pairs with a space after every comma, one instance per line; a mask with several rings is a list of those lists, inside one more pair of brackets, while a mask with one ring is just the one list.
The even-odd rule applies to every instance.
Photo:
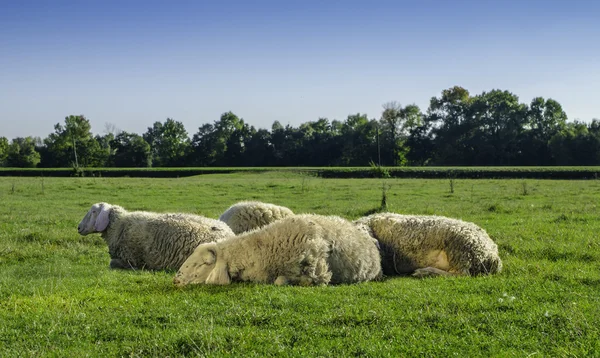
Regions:
[[470, 222], [379, 213], [353, 223], [379, 241], [386, 276], [477, 276], [502, 271], [498, 246]]

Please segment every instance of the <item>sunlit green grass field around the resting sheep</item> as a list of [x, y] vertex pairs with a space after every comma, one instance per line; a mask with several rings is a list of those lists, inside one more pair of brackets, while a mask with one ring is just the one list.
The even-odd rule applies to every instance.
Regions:
[[[259, 199], [355, 219], [376, 209], [473, 221], [504, 271], [329, 287], [172, 285], [108, 269], [76, 226], [98, 201], [217, 217]], [[600, 181], [0, 177], [0, 356], [600, 356]]]

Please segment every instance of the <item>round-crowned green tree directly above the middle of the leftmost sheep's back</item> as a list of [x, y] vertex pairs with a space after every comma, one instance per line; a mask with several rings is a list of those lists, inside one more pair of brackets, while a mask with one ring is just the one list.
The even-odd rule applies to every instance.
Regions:
[[152, 149], [152, 163], [158, 167], [183, 166], [190, 149], [190, 139], [183, 123], [167, 118], [155, 122], [143, 138]]

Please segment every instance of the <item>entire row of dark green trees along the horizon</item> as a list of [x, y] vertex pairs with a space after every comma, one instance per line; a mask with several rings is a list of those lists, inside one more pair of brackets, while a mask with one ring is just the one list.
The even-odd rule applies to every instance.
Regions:
[[172, 118], [141, 135], [115, 126], [93, 135], [84, 115], [57, 123], [47, 138], [0, 137], [4, 167], [204, 166], [547, 166], [600, 165], [600, 120], [567, 121], [556, 100], [502, 90], [471, 95], [455, 86], [425, 112], [397, 102], [379, 118], [351, 114], [270, 130], [226, 112], [191, 137]]

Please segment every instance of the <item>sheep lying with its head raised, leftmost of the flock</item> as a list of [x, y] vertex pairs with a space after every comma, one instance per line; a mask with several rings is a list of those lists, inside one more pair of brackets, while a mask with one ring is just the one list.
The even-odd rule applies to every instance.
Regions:
[[127, 211], [96, 203], [77, 227], [80, 235], [99, 232], [108, 245], [110, 268], [177, 270], [194, 249], [234, 236], [215, 219], [184, 213]]

